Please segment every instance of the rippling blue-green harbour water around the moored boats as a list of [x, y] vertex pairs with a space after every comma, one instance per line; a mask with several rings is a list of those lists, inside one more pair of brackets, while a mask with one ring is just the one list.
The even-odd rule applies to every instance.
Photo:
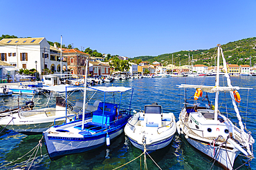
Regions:
[[[221, 77], [222, 78], [222, 77]], [[224, 78], [224, 77], [223, 77]], [[224, 78], [225, 79], [225, 78]], [[163, 112], [173, 112], [176, 116], [176, 121], [179, 119], [179, 112], [183, 107], [183, 93], [184, 89], [178, 88], [176, 85], [180, 84], [197, 84], [197, 85], [214, 85], [215, 77], [175, 77], [175, 78], [141, 78], [129, 79], [128, 81], [114, 81], [113, 83], [102, 84], [104, 86], [125, 86], [134, 87], [134, 96], [131, 102], [131, 108], [138, 111], [143, 109], [144, 105], [152, 104], [153, 102], [162, 105]], [[247, 89], [240, 89], [241, 103], [239, 110], [243, 123], [246, 123], [246, 128], [252, 132], [253, 138], [256, 139], [255, 126], [255, 107], [256, 107], [256, 77], [231, 77], [232, 85], [239, 87], [253, 87], [250, 91]], [[223, 85], [223, 84], [221, 84]], [[82, 94], [76, 92], [71, 100], [81, 100]], [[188, 96], [194, 94], [193, 90], [187, 93]], [[30, 100], [31, 96], [17, 96], [2, 97], [1, 110], [8, 109], [13, 105], [24, 103]], [[209, 94], [212, 104], [214, 104], [214, 94]], [[42, 95], [37, 95], [34, 98], [35, 105], [42, 107], [47, 102], [47, 98]], [[128, 99], [123, 98], [122, 103], [129, 102]], [[234, 112], [231, 113], [232, 103], [230, 94], [220, 95], [221, 112], [226, 114], [233, 123], [238, 123]], [[55, 105], [55, 103], [50, 103]], [[2, 131], [3, 127], [1, 127]], [[0, 134], [0, 167], [1, 169], [28, 169], [31, 161], [26, 162], [31, 153], [24, 158], [28, 151], [33, 149], [42, 138], [42, 135], [26, 136], [24, 134], [16, 133], [4, 129]], [[256, 144], [253, 146], [253, 153], [256, 151]], [[93, 151], [86, 153], [79, 153], [75, 155], [64, 156], [58, 160], [51, 161], [48, 157], [46, 147], [42, 146], [42, 151], [39, 149], [37, 156], [30, 169], [115, 169], [122, 164], [133, 160], [140, 156], [142, 151], [135, 148], [124, 134], [111, 141], [111, 146], [107, 149], [102, 146]], [[42, 154], [42, 155], [41, 155]], [[35, 155], [35, 154], [34, 154]], [[107, 158], [106, 158], [107, 155]], [[194, 149], [184, 138], [184, 136], [175, 135], [174, 140], [170, 145], [164, 149], [150, 153], [150, 156], [161, 167], [161, 169], [222, 169], [218, 164], [212, 166], [212, 160]], [[33, 156], [34, 157], [34, 156]], [[21, 158], [13, 164], [6, 164]], [[234, 169], [241, 164], [247, 162], [246, 158], [239, 156], [235, 160]], [[140, 165], [141, 163], [141, 165]], [[4, 167], [2, 167], [4, 166]], [[143, 157], [125, 165], [120, 169], [144, 169]], [[147, 169], [158, 169], [156, 164], [147, 157]], [[256, 169], [256, 160], [246, 163], [239, 169]]]

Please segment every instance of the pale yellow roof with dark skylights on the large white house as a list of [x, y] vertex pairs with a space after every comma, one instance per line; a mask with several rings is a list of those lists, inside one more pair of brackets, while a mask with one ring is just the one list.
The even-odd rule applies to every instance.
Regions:
[[17, 38], [17, 39], [2, 39], [0, 45], [24, 45], [24, 44], [39, 44], [45, 39], [42, 38]]

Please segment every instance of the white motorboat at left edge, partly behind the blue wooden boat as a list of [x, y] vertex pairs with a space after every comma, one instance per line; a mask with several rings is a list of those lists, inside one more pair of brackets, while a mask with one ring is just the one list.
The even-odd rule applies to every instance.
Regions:
[[[66, 106], [68, 109], [66, 110]], [[52, 125], [61, 125], [75, 116], [71, 105], [66, 105], [65, 99], [56, 97], [56, 107], [32, 109], [19, 107], [12, 114], [0, 118], [0, 125], [21, 134], [42, 134]], [[68, 118], [67, 118], [68, 116]], [[68, 119], [68, 120], [69, 120]]]

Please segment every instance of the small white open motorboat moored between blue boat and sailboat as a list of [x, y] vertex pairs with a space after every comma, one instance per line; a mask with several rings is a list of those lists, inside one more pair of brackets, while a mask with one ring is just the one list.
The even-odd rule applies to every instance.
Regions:
[[144, 111], [132, 116], [125, 126], [125, 135], [132, 145], [147, 151], [155, 151], [169, 145], [175, 132], [174, 114], [163, 113], [161, 105], [157, 103], [145, 105]]

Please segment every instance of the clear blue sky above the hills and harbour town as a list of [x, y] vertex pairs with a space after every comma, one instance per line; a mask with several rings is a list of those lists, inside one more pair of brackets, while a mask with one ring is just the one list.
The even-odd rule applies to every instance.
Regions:
[[0, 35], [46, 37], [102, 54], [157, 56], [256, 36], [256, 1], [6, 1]]

